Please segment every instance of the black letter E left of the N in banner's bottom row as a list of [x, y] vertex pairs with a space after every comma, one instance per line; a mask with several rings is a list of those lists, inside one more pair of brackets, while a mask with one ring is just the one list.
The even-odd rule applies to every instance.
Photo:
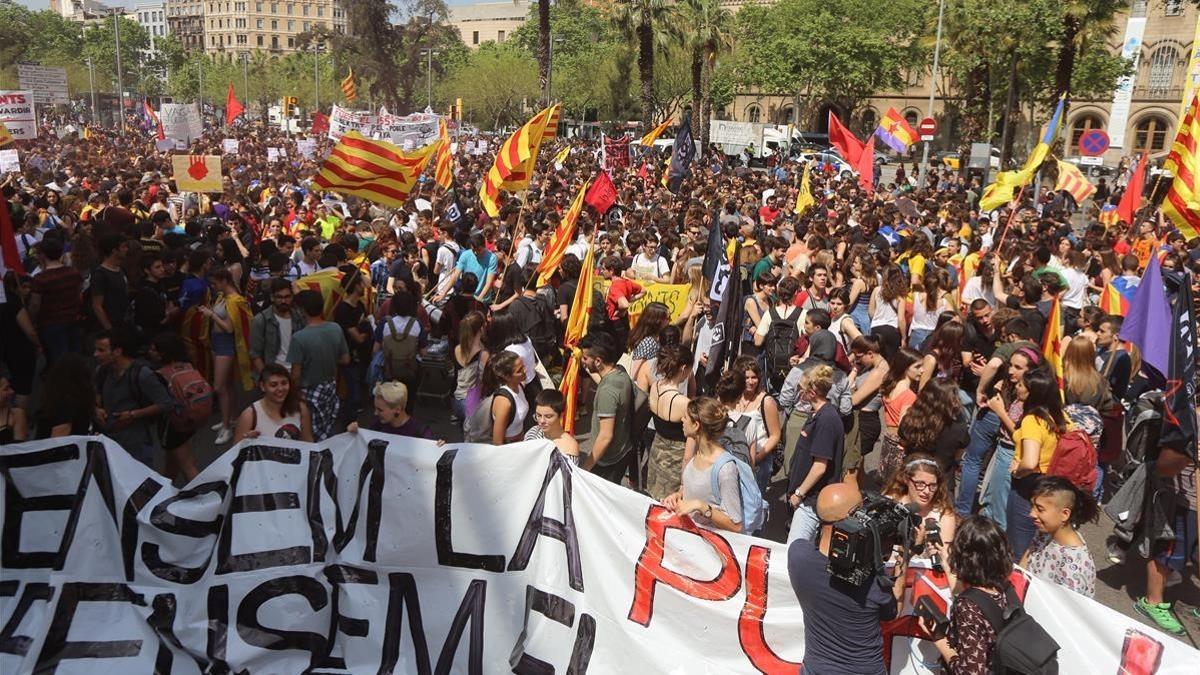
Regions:
[[[146, 601], [140, 593], [134, 593], [125, 584], [64, 584], [59, 591], [54, 619], [46, 632], [46, 641], [37, 655], [35, 673], [54, 673], [59, 663], [77, 658], [128, 658], [142, 653], [142, 640], [78, 640], [67, 641], [71, 621], [80, 603], [85, 602], [125, 602], [145, 607]], [[102, 667], [96, 667], [102, 670]]]

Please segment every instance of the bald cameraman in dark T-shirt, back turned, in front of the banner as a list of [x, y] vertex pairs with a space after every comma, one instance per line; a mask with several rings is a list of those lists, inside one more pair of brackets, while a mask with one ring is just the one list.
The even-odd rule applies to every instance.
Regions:
[[868, 583], [853, 586], [829, 574], [829, 542], [833, 524], [863, 503], [863, 496], [847, 483], [834, 483], [817, 496], [821, 534], [814, 543], [797, 539], [787, 549], [787, 575], [804, 610], [804, 673], [883, 674], [883, 632], [881, 621], [895, 619], [904, 593], [904, 566], [896, 581], [887, 584], [872, 574]]

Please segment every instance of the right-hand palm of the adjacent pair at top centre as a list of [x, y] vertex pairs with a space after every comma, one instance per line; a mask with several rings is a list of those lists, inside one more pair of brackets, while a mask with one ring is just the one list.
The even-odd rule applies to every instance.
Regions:
[[691, 103], [696, 114], [691, 119], [692, 133], [708, 147], [709, 119], [713, 101], [709, 89], [716, 56], [733, 47], [733, 14], [719, 0], [684, 0], [688, 44], [691, 48]]

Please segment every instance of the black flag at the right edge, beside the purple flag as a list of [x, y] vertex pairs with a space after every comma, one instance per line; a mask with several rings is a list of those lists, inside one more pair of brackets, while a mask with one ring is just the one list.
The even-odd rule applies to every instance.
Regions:
[[1192, 306], [1192, 275], [1164, 269], [1163, 285], [1171, 299], [1171, 346], [1163, 387], [1163, 430], [1159, 444], [1196, 455], [1195, 353], [1196, 317]]

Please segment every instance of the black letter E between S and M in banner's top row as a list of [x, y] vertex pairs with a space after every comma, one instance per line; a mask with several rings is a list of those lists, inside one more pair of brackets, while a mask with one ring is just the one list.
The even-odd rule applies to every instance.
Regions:
[[234, 516], [239, 513], [264, 513], [271, 510], [299, 509], [300, 496], [295, 492], [271, 492], [263, 495], [239, 495], [238, 482], [247, 461], [274, 461], [278, 464], [300, 464], [300, 450], [296, 448], [275, 448], [270, 446], [246, 446], [233, 460], [233, 474], [229, 478], [229, 516], [221, 528], [221, 543], [217, 551], [217, 574], [230, 572], [250, 572], [268, 567], [287, 567], [307, 565], [311, 558], [308, 546], [288, 546], [269, 551], [248, 554], [230, 554]]

